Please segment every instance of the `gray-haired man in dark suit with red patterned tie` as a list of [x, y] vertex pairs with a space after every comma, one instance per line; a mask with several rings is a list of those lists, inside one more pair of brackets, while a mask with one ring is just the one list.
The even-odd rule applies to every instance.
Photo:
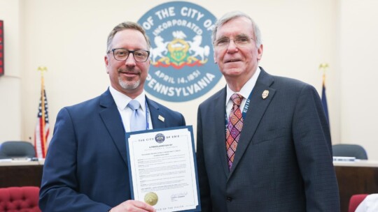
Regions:
[[213, 41], [227, 86], [198, 108], [202, 211], [339, 211], [330, 131], [314, 87], [258, 66], [260, 30], [244, 13], [221, 17]]

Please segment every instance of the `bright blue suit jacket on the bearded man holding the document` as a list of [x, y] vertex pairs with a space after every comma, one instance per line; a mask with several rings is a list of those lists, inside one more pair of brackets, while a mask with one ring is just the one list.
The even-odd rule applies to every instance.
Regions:
[[[182, 114], [146, 100], [154, 129], [185, 126]], [[125, 130], [110, 91], [61, 109], [43, 167], [42, 211], [108, 211], [127, 199]]]

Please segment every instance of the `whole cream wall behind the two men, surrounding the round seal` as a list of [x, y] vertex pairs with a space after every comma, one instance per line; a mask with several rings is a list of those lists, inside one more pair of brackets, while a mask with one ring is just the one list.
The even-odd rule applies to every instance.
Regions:
[[[0, 142], [33, 137], [40, 96], [38, 66], [48, 67], [45, 87], [53, 126], [60, 108], [98, 96], [109, 86], [104, 52], [113, 26], [125, 20], [137, 21], [165, 2], [0, 0], [0, 19], [6, 28], [6, 76], [0, 78]], [[264, 54], [260, 66], [273, 75], [300, 79], [321, 92], [318, 65], [329, 63], [327, 98], [332, 142], [362, 144], [368, 147], [370, 158], [378, 160], [374, 156], [378, 145], [374, 144], [374, 120], [378, 119], [374, 108], [378, 100], [374, 98], [377, 89], [373, 82], [378, 75], [374, 71], [378, 45], [376, 1], [190, 2], [216, 17], [230, 10], [251, 15], [262, 31]], [[188, 125], [195, 128], [197, 106], [223, 86], [225, 81], [221, 79], [209, 93], [185, 103], [150, 97], [182, 112]], [[11, 98], [7, 96], [10, 92]]]

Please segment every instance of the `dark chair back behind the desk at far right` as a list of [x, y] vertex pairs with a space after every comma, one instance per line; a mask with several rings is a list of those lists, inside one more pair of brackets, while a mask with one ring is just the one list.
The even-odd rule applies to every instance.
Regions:
[[355, 157], [356, 159], [367, 160], [365, 149], [357, 144], [332, 145], [332, 154], [337, 157]]

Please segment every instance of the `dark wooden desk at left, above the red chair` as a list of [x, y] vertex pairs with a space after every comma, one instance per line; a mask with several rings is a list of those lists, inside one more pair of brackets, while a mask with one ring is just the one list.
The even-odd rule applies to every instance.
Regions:
[[0, 188], [34, 185], [41, 187], [43, 161], [0, 162]]

